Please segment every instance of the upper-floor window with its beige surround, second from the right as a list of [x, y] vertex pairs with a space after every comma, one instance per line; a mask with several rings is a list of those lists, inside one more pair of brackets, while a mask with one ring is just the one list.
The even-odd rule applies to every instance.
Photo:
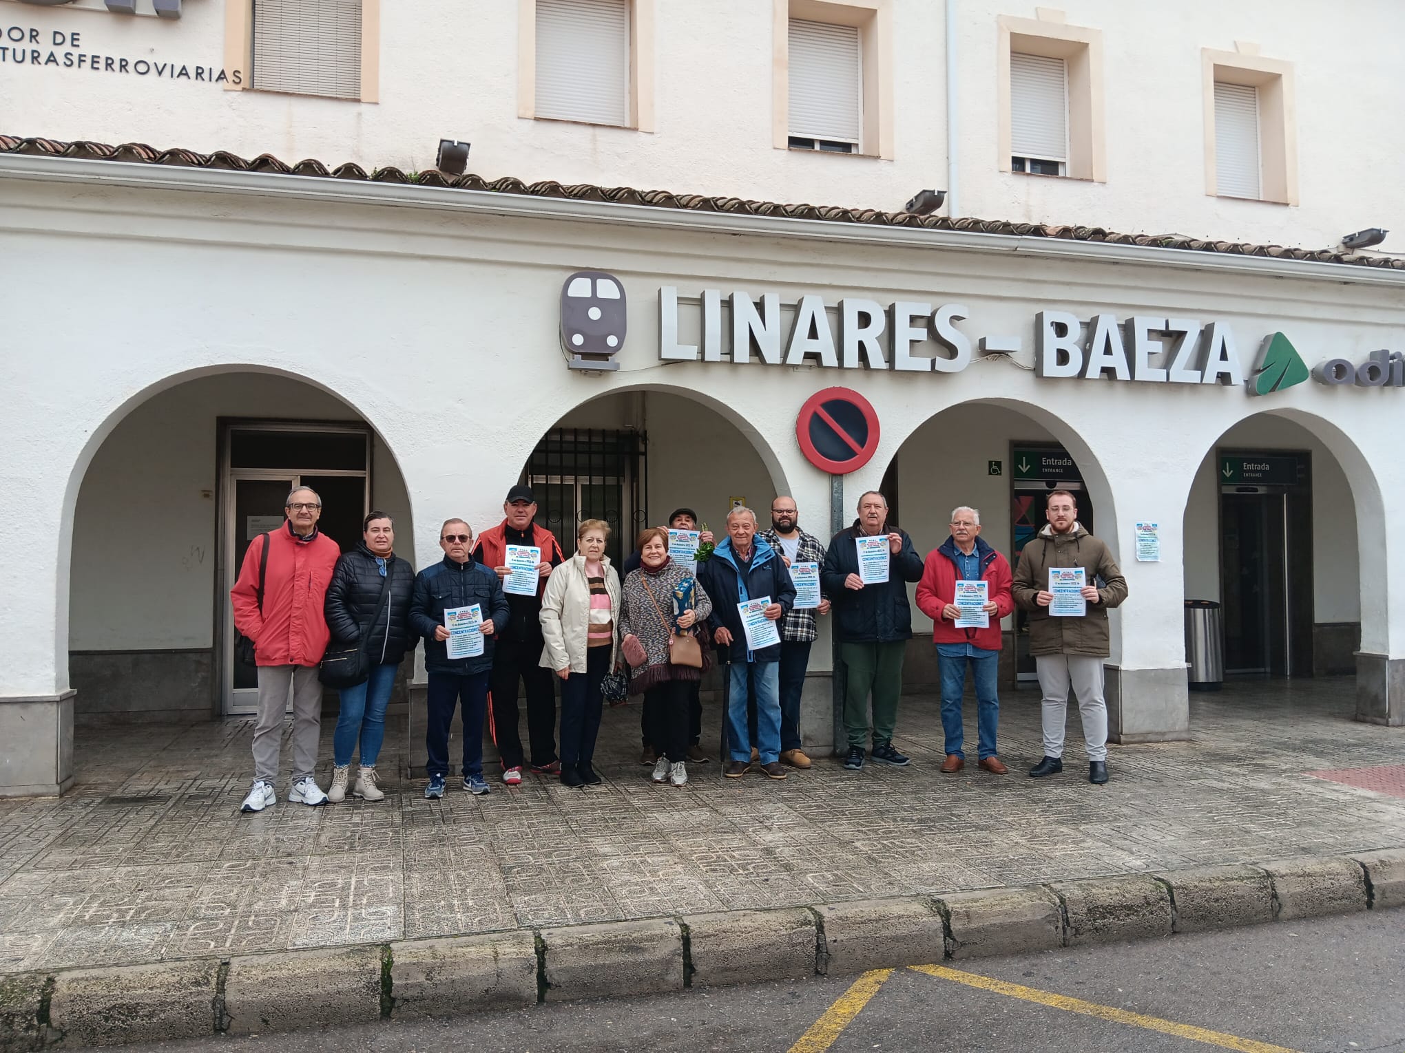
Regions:
[[1044, 14], [996, 24], [1000, 171], [1106, 181], [1102, 31]]

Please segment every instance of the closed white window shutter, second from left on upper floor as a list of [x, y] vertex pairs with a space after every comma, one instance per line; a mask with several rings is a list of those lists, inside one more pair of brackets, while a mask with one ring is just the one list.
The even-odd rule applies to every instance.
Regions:
[[537, 117], [629, 124], [629, 0], [537, 0]]

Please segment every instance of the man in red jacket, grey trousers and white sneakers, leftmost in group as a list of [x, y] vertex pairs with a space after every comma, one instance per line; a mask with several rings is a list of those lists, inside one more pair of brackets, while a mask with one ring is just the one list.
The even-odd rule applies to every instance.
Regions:
[[[242, 812], [263, 812], [278, 796], [278, 747], [282, 716], [292, 692], [292, 790], [288, 800], [326, 804], [318, 786], [318, 737], [322, 733], [322, 684], [318, 664], [332, 633], [323, 616], [323, 601], [332, 570], [341, 555], [332, 538], [318, 532], [322, 498], [305, 486], [288, 494], [287, 522], [260, 534], [249, 545], [239, 580], [229, 590], [235, 628], [254, 644], [259, 667], [259, 723], [254, 726], [254, 785]], [[259, 569], [268, 548], [264, 580]], [[260, 584], [263, 604], [259, 602]]]

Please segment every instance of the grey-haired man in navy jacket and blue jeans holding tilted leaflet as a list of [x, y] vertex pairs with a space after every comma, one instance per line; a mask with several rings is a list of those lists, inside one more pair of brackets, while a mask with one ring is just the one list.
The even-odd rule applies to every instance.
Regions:
[[739, 779], [752, 767], [752, 741], [747, 731], [747, 699], [756, 701], [756, 744], [762, 771], [771, 779], [784, 779], [781, 753], [781, 644], [752, 650], [742, 626], [739, 604], [769, 598], [764, 618], [773, 625], [795, 605], [795, 585], [781, 553], [756, 536], [756, 512], [746, 507], [726, 515], [726, 538], [712, 557], [698, 566], [698, 581], [712, 600], [708, 623], [712, 639], [725, 649], [732, 663], [728, 696], [728, 754], [722, 774]]

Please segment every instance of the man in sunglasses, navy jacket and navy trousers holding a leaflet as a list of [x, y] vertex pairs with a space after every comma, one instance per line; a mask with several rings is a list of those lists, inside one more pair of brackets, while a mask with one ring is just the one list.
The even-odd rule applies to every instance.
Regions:
[[[507, 597], [497, 574], [472, 556], [473, 529], [462, 519], [445, 519], [440, 526], [444, 559], [414, 577], [410, 628], [424, 637], [424, 668], [429, 673], [429, 720], [424, 727], [426, 768], [430, 785], [426, 797], [443, 797], [448, 776], [448, 729], [454, 709], [464, 701], [464, 789], [488, 793], [483, 779], [483, 713], [488, 681], [493, 671], [493, 636], [507, 625]], [[448, 629], [444, 612], [472, 607], [483, 616], [483, 653], [472, 658], [448, 657]]]

